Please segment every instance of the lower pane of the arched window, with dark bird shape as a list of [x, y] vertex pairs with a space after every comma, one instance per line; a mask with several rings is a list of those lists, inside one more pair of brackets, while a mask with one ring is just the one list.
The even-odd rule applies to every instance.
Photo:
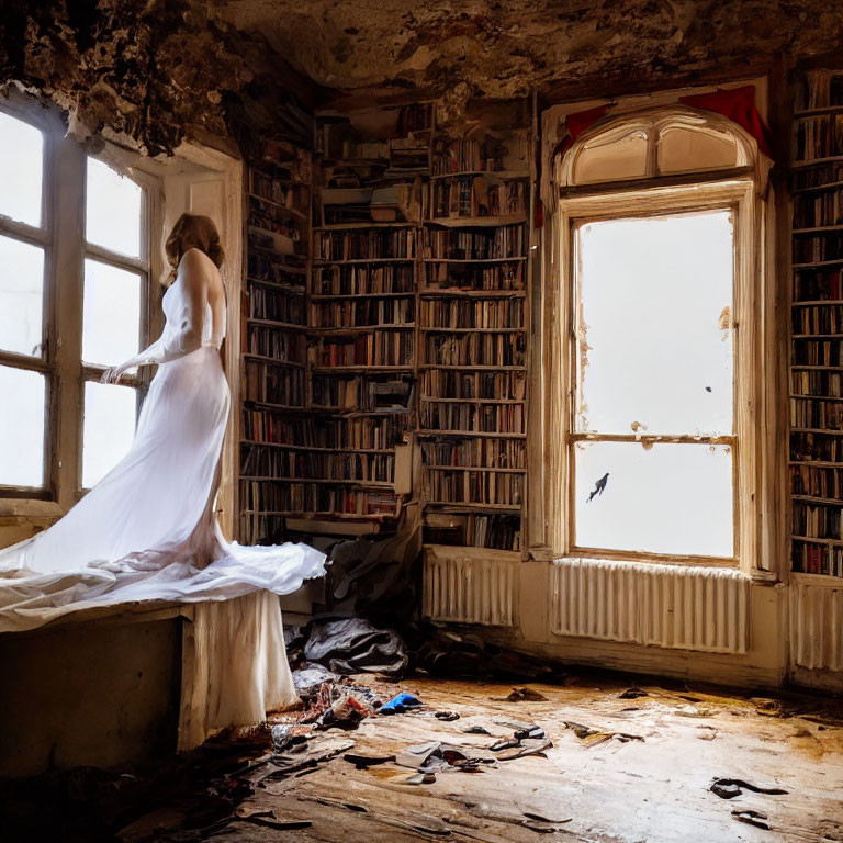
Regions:
[[574, 454], [578, 547], [732, 557], [728, 446], [577, 442]]

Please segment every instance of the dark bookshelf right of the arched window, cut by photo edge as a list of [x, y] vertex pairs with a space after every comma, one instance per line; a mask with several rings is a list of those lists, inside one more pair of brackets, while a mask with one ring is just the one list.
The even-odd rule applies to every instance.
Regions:
[[843, 577], [843, 70], [798, 85], [793, 178], [793, 569]]

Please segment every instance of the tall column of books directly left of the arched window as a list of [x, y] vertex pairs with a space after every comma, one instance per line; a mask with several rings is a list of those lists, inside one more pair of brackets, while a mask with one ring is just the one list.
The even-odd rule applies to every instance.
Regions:
[[418, 294], [429, 544], [522, 547], [529, 207], [526, 131], [435, 137]]

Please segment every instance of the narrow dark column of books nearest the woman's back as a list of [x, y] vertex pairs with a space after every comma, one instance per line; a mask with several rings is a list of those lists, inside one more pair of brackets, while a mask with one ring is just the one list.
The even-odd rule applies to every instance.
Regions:
[[291, 482], [305, 460], [291, 446], [318, 439], [305, 412], [311, 167], [303, 149], [256, 142], [246, 169], [238, 492], [248, 544], [279, 540], [284, 514], [312, 495]]

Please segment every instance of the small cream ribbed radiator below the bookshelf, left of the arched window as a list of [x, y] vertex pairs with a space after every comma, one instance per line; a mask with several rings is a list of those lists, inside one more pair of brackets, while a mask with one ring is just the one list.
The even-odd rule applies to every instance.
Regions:
[[458, 623], [514, 626], [518, 560], [494, 553], [456, 548], [426, 549], [425, 617]]

